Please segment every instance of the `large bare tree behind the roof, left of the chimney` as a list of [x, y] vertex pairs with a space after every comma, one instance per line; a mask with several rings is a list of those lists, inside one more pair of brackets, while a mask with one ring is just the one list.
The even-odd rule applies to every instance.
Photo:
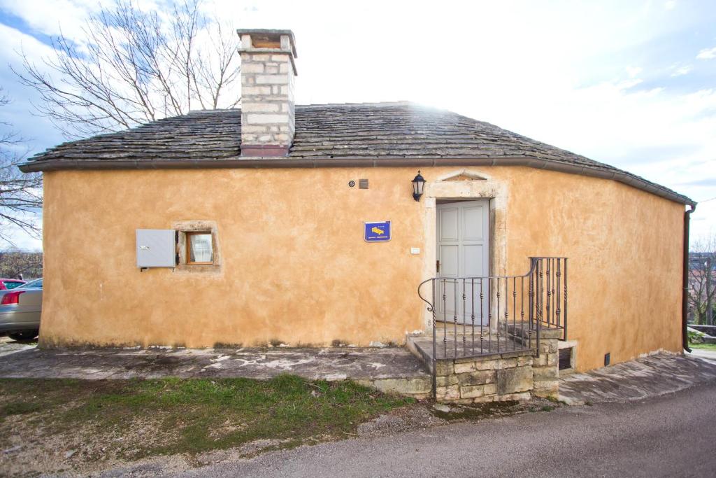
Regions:
[[34, 105], [68, 138], [131, 128], [192, 109], [240, 101], [238, 36], [183, 0], [170, 11], [143, 11], [115, 0], [92, 14], [77, 44], [64, 34], [38, 66], [21, 52], [20, 81], [39, 92]]

